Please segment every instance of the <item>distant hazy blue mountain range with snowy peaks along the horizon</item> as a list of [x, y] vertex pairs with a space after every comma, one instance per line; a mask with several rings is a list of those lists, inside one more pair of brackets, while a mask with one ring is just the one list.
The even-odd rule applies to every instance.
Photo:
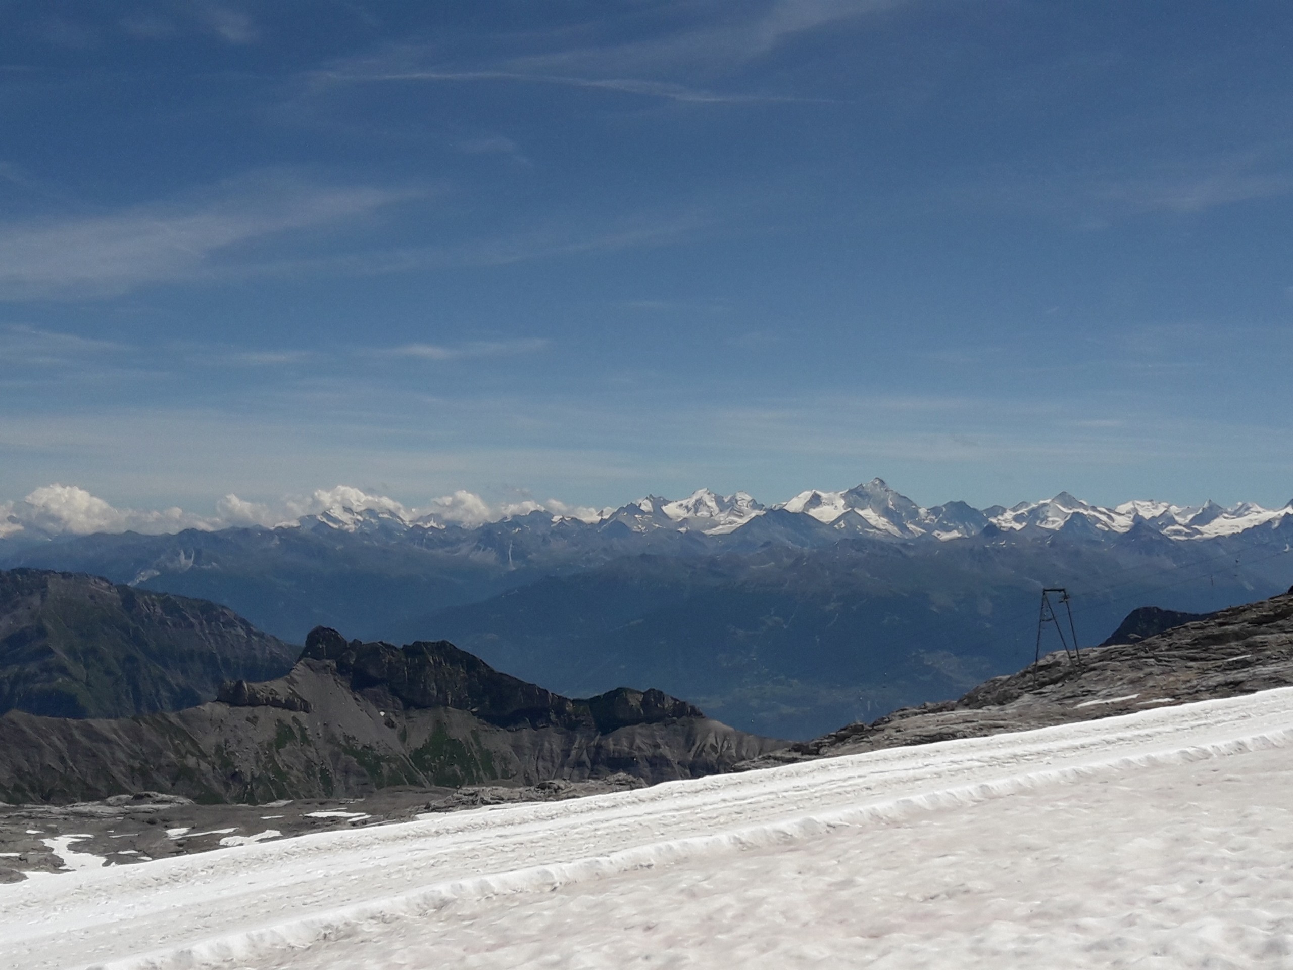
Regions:
[[226, 603], [295, 641], [321, 625], [447, 638], [565, 696], [649, 683], [798, 738], [1018, 669], [1043, 586], [1072, 592], [1093, 644], [1146, 603], [1202, 614], [1293, 582], [1293, 507], [1104, 508], [1062, 493], [924, 508], [879, 480], [778, 507], [648, 497], [595, 521], [535, 511], [464, 528], [383, 506], [272, 529], [36, 538], [0, 541], [0, 564]]

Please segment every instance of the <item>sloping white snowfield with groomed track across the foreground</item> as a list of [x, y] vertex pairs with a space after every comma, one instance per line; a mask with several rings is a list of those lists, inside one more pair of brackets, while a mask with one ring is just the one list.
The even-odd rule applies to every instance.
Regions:
[[1293, 966], [1293, 688], [0, 886], [3, 967]]

